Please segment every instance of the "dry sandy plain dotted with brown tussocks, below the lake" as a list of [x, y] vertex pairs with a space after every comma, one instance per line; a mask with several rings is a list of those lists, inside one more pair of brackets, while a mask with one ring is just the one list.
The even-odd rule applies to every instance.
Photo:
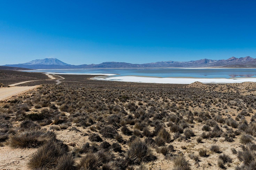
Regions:
[[37, 87], [0, 103], [0, 169], [256, 169], [256, 83], [9, 74]]

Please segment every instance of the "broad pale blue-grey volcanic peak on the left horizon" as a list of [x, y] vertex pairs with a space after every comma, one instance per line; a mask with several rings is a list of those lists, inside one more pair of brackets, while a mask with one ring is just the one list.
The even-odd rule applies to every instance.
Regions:
[[30, 62], [26, 62], [23, 63], [25, 65], [70, 65], [67, 63], [64, 63], [60, 60], [58, 60], [57, 58], [45, 58], [45, 59], [36, 59], [36, 60], [32, 60]]

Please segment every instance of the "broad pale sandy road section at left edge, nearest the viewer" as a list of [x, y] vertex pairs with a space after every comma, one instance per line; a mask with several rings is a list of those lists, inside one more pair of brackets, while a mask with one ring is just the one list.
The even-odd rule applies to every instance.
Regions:
[[11, 96], [17, 95], [27, 90], [34, 89], [37, 86], [21, 86], [21, 87], [8, 87], [0, 89], [0, 100], [7, 99]]

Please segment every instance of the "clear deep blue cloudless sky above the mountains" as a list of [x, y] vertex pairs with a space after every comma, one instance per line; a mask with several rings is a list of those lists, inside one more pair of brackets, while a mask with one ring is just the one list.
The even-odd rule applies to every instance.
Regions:
[[0, 65], [256, 58], [254, 0], [0, 0]]

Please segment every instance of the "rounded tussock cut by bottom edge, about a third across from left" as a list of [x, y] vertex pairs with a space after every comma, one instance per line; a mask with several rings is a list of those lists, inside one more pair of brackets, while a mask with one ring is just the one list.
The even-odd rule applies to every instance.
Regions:
[[97, 170], [101, 165], [101, 158], [97, 154], [87, 153], [80, 159], [78, 167], [81, 170]]

